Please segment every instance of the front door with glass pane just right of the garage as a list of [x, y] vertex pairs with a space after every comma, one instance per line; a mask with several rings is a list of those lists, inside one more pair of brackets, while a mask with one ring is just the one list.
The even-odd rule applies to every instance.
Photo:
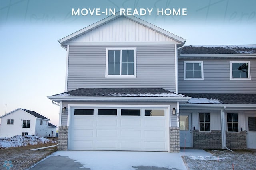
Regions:
[[192, 147], [191, 113], [180, 114], [180, 147]]

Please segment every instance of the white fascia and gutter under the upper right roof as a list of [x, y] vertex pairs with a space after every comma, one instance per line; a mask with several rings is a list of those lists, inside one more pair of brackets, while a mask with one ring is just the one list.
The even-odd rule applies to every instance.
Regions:
[[241, 57], [256, 57], [256, 54], [180, 54], [178, 59], [187, 58], [241, 58]]

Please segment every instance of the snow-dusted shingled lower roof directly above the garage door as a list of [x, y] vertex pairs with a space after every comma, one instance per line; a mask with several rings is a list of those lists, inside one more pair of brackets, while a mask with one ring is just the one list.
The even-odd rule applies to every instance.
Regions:
[[132, 100], [132, 99], [172, 99], [188, 100], [188, 96], [177, 94], [163, 88], [78, 88], [48, 97], [60, 100]]

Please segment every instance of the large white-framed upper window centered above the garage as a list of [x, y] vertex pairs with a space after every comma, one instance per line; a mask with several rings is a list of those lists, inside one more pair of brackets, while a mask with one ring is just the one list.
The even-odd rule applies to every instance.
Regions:
[[107, 48], [106, 77], [136, 77], [136, 48]]

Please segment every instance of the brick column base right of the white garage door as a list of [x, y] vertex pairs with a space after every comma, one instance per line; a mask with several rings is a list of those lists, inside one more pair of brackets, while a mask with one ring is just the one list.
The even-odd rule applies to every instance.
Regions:
[[179, 127], [170, 127], [170, 152], [180, 152]]

